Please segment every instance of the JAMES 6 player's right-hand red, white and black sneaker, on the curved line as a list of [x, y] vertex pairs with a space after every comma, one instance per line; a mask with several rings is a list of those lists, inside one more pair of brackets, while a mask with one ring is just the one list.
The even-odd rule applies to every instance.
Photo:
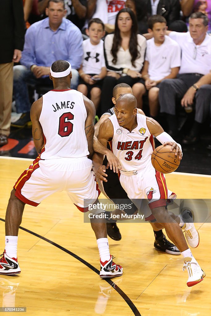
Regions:
[[119, 264], [113, 262], [113, 256], [110, 255], [108, 261], [102, 262], [100, 260], [100, 277], [101, 279], [112, 278], [115, 276], [121, 276], [123, 268]]

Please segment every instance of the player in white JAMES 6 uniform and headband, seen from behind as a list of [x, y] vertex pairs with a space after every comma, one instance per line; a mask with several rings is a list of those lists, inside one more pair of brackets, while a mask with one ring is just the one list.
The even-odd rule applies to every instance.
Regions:
[[[19, 177], [9, 198], [0, 274], [21, 272], [17, 239], [25, 204], [37, 206], [45, 197], [62, 190], [82, 212], [87, 211], [89, 201], [97, 201], [99, 191], [89, 159], [93, 154], [95, 107], [81, 92], [70, 88], [71, 78], [67, 61], [54, 62], [50, 69], [54, 89], [32, 105], [32, 135], [39, 156]], [[106, 223], [92, 221], [91, 226], [100, 253], [100, 277], [122, 275], [122, 267], [112, 261], [109, 252]]]

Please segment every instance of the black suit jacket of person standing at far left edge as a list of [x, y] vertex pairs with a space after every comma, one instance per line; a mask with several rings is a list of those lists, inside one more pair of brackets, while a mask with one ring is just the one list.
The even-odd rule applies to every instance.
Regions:
[[14, 49], [23, 50], [23, 0], [1, 0], [0, 11], [0, 64], [5, 64], [12, 62]]

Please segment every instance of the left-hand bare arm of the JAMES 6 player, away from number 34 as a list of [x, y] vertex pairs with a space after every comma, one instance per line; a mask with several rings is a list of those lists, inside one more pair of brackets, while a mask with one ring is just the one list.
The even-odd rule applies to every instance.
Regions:
[[44, 146], [43, 130], [39, 121], [41, 110], [42, 97], [32, 104], [30, 111], [30, 117], [32, 121], [32, 137], [34, 140], [34, 146], [38, 154], [40, 154]]

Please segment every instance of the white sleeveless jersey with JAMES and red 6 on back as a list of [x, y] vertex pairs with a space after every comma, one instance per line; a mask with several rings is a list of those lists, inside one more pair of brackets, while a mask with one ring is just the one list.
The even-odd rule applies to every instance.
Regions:
[[89, 155], [85, 135], [87, 112], [77, 90], [51, 90], [44, 94], [40, 124], [45, 146], [41, 159], [79, 158]]

